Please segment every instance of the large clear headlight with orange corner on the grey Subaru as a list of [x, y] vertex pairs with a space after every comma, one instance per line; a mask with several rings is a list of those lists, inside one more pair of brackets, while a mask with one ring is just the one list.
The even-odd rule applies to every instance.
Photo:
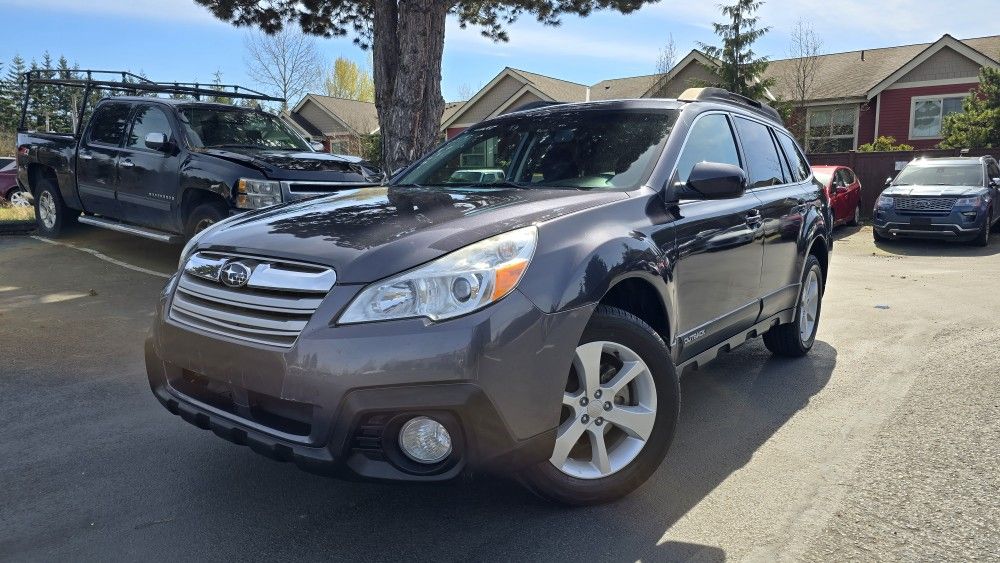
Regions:
[[535, 227], [510, 231], [375, 282], [354, 298], [339, 322], [439, 321], [482, 309], [517, 287], [537, 241]]

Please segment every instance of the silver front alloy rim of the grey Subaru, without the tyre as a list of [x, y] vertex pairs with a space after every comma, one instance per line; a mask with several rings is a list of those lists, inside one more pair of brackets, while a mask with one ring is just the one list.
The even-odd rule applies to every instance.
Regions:
[[577, 347], [556, 445], [549, 462], [578, 479], [624, 469], [642, 451], [656, 422], [656, 383], [649, 366], [616, 342]]

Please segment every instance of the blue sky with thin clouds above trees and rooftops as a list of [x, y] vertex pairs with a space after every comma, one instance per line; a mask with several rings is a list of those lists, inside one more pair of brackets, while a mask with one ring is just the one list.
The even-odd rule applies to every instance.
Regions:
[[[650, 74], [670, 34], [681, 56], [698, 41], [715, 40], [715, 4], [662, 0], [630, 15], [567, 16], [559, 27], [526, 17], [510, 28], [506, 44], [450, 21], [442, 92], [458, 99], [463, 85], [474, 92], [505, 66], [585, 84]], [[39, 59], [48, 50], [82, 67], [141, 70], [154, 80], [208, 81], [219, 70], [226, 82], [252, 85], [243, 54], [246, 31], [215, 20], [193, 0], [0, 0], [0, 14], [2, 61], [14, 54]], [[770, 0], [761, 18], [772, 31], [757, 50], [786, 57], [787, 31], [800, 18], [819, 32], [824, 52], [839, 52], [933, 41], [944, 33], [996, 34], [995, 14], [996, 0]], [[343, 55], [367, 64], [367, 53], [350, 39], [318, 42], [330, 61]]]

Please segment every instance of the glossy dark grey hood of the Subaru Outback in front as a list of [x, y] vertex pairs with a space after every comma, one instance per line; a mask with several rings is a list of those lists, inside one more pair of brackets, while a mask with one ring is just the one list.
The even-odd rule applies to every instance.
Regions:
[[247, 213], [199, 248], [333, 267], [338, 283], [368, 283], [473, 242], [626, 199], [623, 192], [373, 187]]

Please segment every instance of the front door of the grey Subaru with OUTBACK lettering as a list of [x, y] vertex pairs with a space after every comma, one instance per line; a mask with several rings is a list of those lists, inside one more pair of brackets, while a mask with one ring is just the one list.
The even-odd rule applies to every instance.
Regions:
[[674, 268], [679, 361], [750, 327], [760, 312], [760, 201], [752, 193], [704, 201], [684, 186], [699, 162], [742, 166], [730, 118], [702, 114], [688, 134], [672, 184], [678, 194]]

